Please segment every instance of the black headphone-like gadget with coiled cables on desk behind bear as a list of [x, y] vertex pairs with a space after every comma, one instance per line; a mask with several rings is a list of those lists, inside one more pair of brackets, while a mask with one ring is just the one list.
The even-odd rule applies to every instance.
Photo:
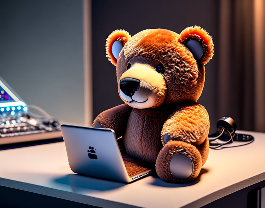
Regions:
[[[210, 148], [211, 149], [222, 149], [222, 148], [230, 148], [230, 147], [239, 147], [243, 145], [250, 144], [254, 141], [254, 137], [247, 134], [237, 134], [235, 133], [237, 129], [237, 124], [234, 119], [225, 116], [220, 118], [216, 124], [217, 131], [214, 134], [208, 135]], [[216, 139], [222, 140], [224, 142], [218, 142]], [[226, 145], [232, 143], [234, 141], [237, 142], [248, 142], [241, 145]], [[224, 146], [225, 145], [225, 146]]]

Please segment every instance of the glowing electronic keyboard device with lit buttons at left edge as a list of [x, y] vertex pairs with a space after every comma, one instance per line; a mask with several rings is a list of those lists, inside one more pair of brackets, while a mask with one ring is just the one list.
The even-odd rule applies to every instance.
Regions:
[[62, 137], [56, 119], [36, 116], [32, 116], [25, 101], [0, 77], [0, 145]]

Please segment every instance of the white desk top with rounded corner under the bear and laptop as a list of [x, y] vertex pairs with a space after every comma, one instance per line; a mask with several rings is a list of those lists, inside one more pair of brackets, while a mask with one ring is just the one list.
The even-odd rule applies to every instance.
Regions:
[[[265, 133], [249, 145], [211, 150], [193, 183], [156, 175], [130, 184], [72, 173], [64, 142], [0, 151], [0, 185], [99, 207], [201, 207], [265, 180]], [[240, 143], [242, 144], [242, 143]]]

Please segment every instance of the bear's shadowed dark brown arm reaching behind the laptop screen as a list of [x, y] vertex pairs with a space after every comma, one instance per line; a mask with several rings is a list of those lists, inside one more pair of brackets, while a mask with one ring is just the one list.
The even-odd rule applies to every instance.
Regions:
[[92, 127], [113, 129], [116, 138], [125, 133], [127, 121], [132, 108], [127, 104], [118, 105], [100, 113], [94, 120]]

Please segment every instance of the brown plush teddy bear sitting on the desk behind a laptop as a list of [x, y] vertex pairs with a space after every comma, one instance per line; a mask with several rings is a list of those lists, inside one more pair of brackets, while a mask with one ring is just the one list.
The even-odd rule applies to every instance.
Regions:
[[127, 160], [128, 173], [141, 162], [155, 165], [167, 182], [185, 183], [198, 176], [209, 152], [209, 115], [196, 102], [213, 47], [209, 33], [198, 26], [180, 35], [165, 29], [132, 37], [125, 30], [109, 35], [106, 53], [117, 66], [118, 92], [125, 104], [100, 113], [92, 126], [111, 128], [122, 137], [120, 148], [127, 158], [139, 161], [133, 166], [133, 159]]

